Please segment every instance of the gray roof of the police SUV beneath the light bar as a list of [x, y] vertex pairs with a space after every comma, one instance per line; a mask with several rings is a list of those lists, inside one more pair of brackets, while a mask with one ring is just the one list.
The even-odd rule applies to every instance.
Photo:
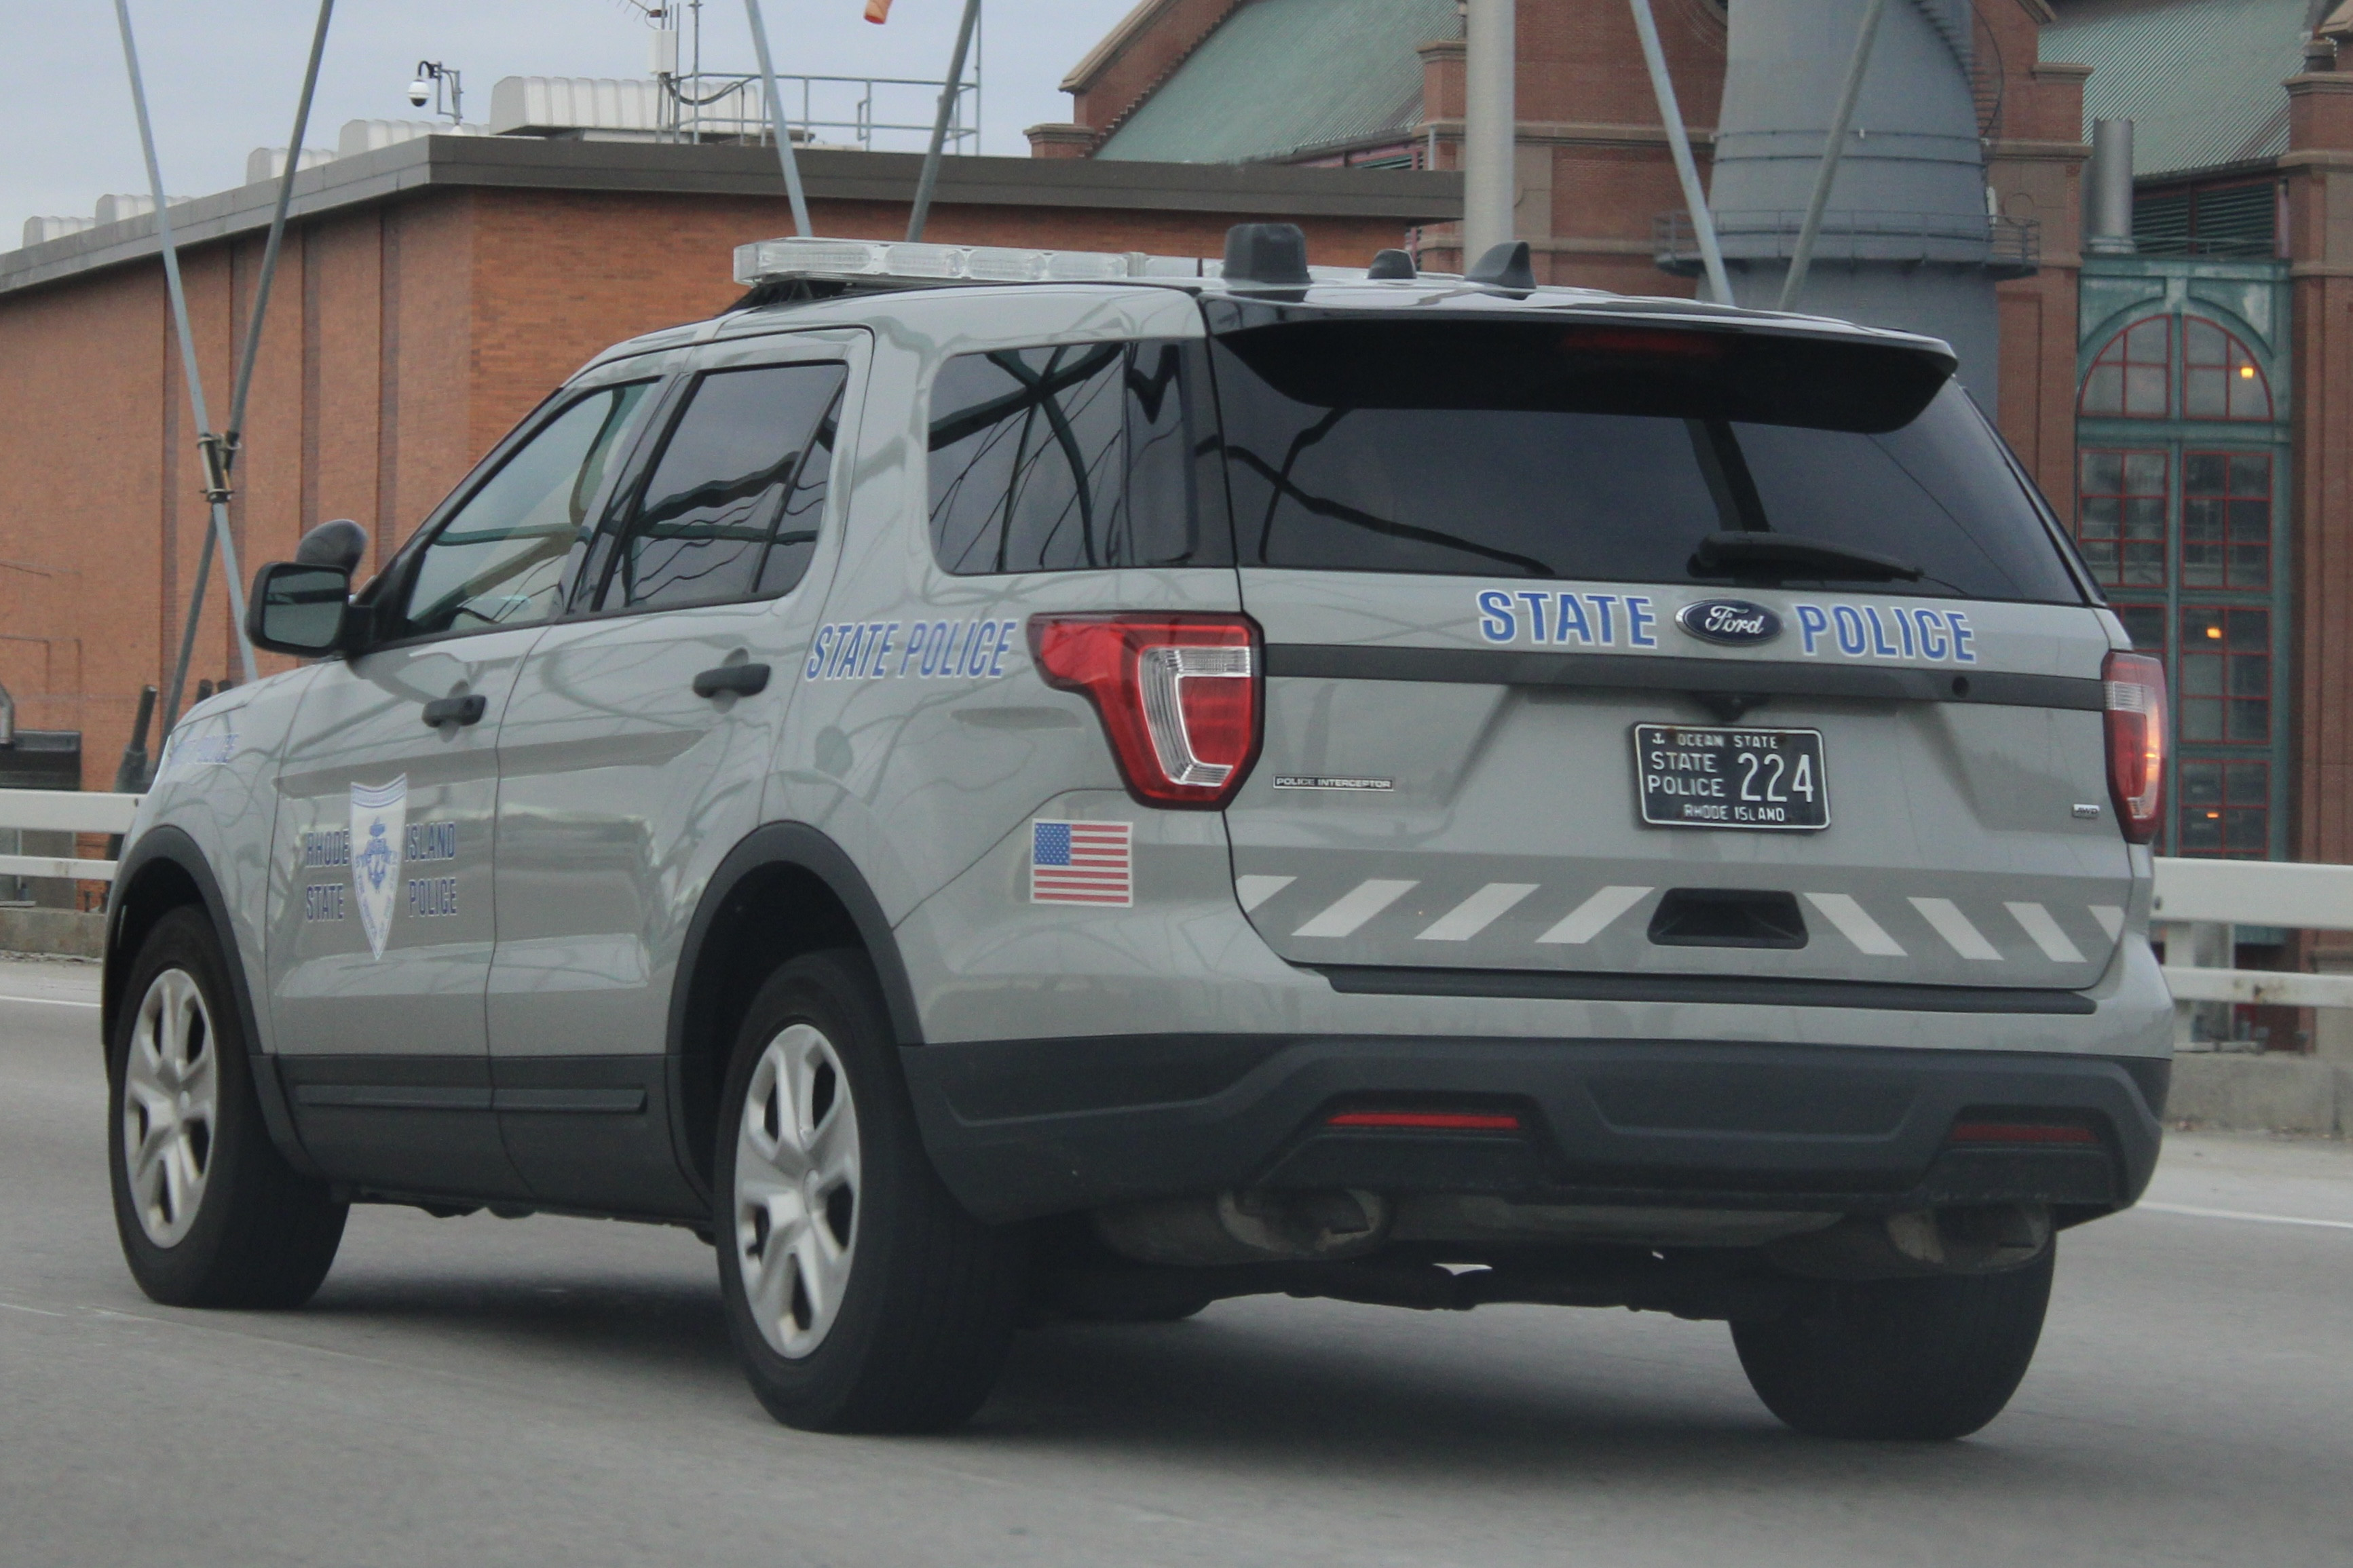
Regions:
[[[774, 244], [774, 242], [769, 242]], [[833, 244], [856, 244], [871, 247], [878, 254], [892, 249], [882, 242], [833, 242]], [[753, 252], [758, 247], [744, 247]], [[922, 247], [922, 249], [951, 249], [951, 247]], [[979, 256], [981, 252], [967, 252]], [[1035, 254], [1031, 254], [1035, 256]], [[911, 313], [944, 313], [969, 308], [986, 299], [1000, 299], [1007, 289], [1019, 289], [1024, 294], [1038, 292], [1066, 292], [1094, 303], [1104, 301], [1106, 292], [1127, 292], [1134, 296], [1160, 296], [1167, 292], [1184, 292], [1193, 296], [1224, 296], [1235, 301], [1268, 301], [1285, 306], [1301, 306], [1318, 315], [1322, 313], [1424, 313], [1438, 310], [1449, 317], [1457, 315], [1482, 315], [1482, 317], [1520, 317], [1546, 315], [1546, 317], [1579, 317], [1579, 320], [1628, 320], [1649, 327], [1708, 327], [1708, 329], [1732, 329], [1732, 331], [1769, 331], [1774, 336], [1821, 336], [1821, 339], [1847, 339], [1847, 341], [1871, 341], [1887, 348], [1913, 348], [1922, 353], [1934, 353], [1946, 360], [1953, 357], [1951, 346], [1939, 339], [1892, 331], [1885, 327], [1864, 327], [1857, 322], [1842, 322], [1821, 315], [1795, 315], [1786, 310], [1751, 310], [1744, 306], [1718, 306], [1697, 299], [1673, 299], [1673, 296], [1640, 296], [1640, 294], [1609, 294], [1607, 289], [1569, 289], [1569, 287], [1537, 287], [1537, 289], [1511, 289], [1489, 282], [1473, 282], [1452, 273], [1419, 273], [1414, 277], [1367, 277], [1360, 268], [1311, 268], [1311, 282], [1306, 287], [1268, 287], [1259, 282], [1228, 282], [1219, 275], [1217, 261], [1195, 259], [1172, 259], [1172, 256], [1101, 256], [1101, 261], [1122, 263], [1129, 275], [1101, 275], [1101, 277], [1035, 277], [1019, 282], [998, 282], [986, 277], [922, 277], [922, 275], [892, 275], [882, 270], [859, 273], [859, 275], [812, 275], [809, 282], [819, 284], [809, 299], [786, 299], [786, 301], [762, 301], [760, 287], [746, 296], [734, 310], [727, 310], [708, 322], [689, 322], [682, 327], [664, 327], [659, 331], [628, 339], [626, 343], [614, 343], [600, 353], [593, 364], [605, 364], [609, 360], [656, 353], [666, 348], [687, 348], [692, 343], [704, 343], [718, 336], [746, 336], [755, 331], [786, 331], [805, 327], [856, 327], [875, 320], [904, 317]], [[1193, 268], [1191, 273], [1179, 273], [1179, 268]], [[760, 277], [748, 277], [748, 282], [760, 282]]]

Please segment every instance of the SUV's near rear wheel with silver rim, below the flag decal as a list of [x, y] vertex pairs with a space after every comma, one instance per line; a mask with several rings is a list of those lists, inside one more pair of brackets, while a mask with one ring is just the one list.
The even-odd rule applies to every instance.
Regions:
[[981, 1408], [1021, 1309], [1019, 1232], [932, 1171], [866, 954], [805, 954], [760, 987], [713, 1171], [727, 1333], [769, 1415], [939, 1432]]

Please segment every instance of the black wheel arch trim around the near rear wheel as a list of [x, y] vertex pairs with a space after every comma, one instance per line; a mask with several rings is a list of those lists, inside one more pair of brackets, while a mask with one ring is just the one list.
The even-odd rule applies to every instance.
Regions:
[[699, 1192], [711, 1190], [711, 1133], [744, 1009], [776, 964], [824, 947], [861, 947], [896, 1044], [922, 1044], [899, 938], [849, 853], [807, 823], [758, 827], [711, 875], [671, 987], [671, 1138]]

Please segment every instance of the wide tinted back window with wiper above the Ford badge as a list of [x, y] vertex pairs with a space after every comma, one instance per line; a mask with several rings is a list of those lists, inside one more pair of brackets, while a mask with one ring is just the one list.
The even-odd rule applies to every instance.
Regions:
[[2080, 604], [1986, 421], [1925, 355], [1553, 322], [1287, 322], [1217, 339], [1242, 562], [1885, 588], [1694, 562], [1781, 534], [1904, 592]]

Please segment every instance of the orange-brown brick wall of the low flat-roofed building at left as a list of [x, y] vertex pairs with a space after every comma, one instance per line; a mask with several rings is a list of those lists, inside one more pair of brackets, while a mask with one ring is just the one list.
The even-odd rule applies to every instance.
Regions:
[[[831, 235], [906, 233], [904, 202], [812, 212]], [[929, 237], [1214, 256], [1249, 216], [944, 205]], [[1402, 240], [1393, 219], [1304, 226], [1318, 263]], [[788, 230], [767, 197], [529, 188], [428, 188], [292, 226], [231, 505], [247, 578], [329, 517], [365, 524], [381, 562], [581, 362], [727, 308], [734, 247]], [[259, 266], [259, 235], [184, 256], [216, 425]], [[160, 263], [0, 296], [0, 684], [21, 724], [80, 729], [82, 783], [108, 788], [139, 686], [169, 679], [207, 529]], [[214, 567], [188, 684], [235, 675]]]

